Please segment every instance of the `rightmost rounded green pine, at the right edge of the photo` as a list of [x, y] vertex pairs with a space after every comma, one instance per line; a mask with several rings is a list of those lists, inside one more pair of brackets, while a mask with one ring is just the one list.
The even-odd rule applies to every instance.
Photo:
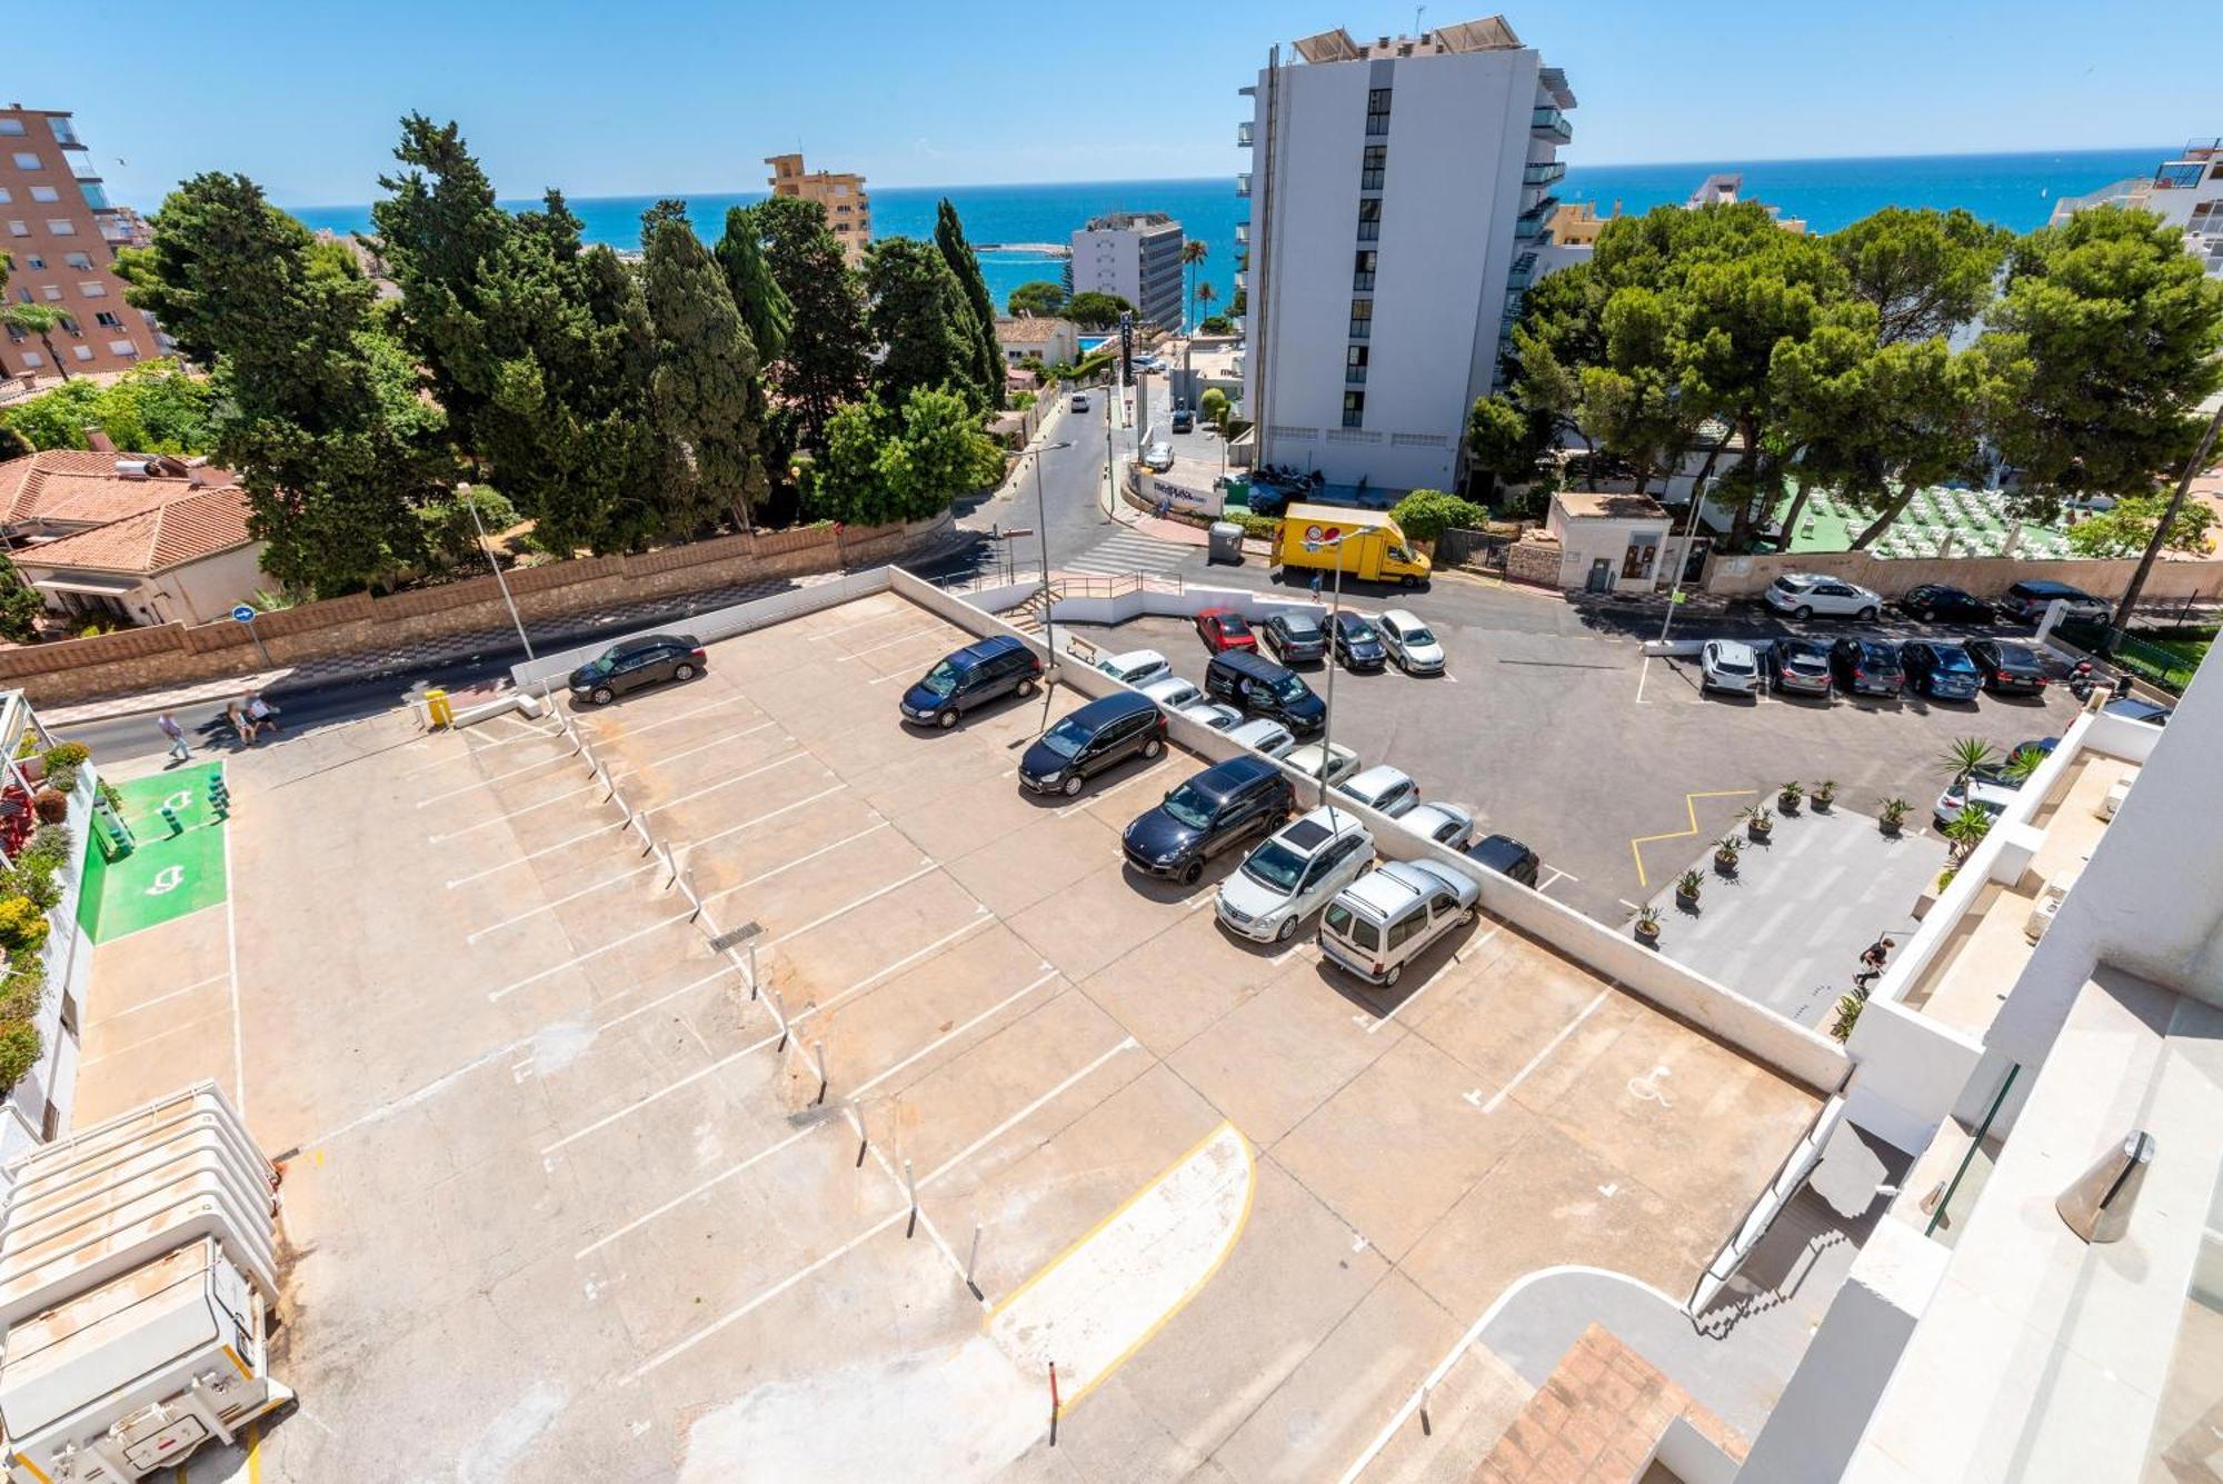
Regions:
[[2179, 473], [2223, 384], [2223, 282], [2183, 233], [2096, 207], [2023, 238], [1983, 344], [2021, 371], [1992, 440], [2025, 518], [2067, 495], [2147, 495]]

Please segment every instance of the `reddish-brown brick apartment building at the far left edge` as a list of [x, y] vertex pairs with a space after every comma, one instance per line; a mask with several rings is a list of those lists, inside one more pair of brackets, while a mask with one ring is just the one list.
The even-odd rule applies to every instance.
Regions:
[[124, 304], [124, 284], [111, 271], [136, 222], [136, 213], [109, 202], [67, 111], [0, 109], [0, 253], [9, 255], [0, 293], [62, 315], [47, 333], [51, 353], [36, 333], [0, 333], [0, 375], [44, 382], [64, 371], [122, 371], [167, 353], [153, 320]]

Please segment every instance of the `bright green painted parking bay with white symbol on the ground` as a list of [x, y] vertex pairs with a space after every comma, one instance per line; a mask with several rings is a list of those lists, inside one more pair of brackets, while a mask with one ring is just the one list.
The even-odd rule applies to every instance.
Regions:
[[[202, 762], [116, 786], [138, 846], [120, 860], [107, 860], [98, 840], [84, 851], [78, 924], [93, 942], [222, 904], [231, 875], [225, 822], [209, 809], [209, 780], [222, 769]], [[162, 804], [178, 815], [180, 833], [169, 833]]]

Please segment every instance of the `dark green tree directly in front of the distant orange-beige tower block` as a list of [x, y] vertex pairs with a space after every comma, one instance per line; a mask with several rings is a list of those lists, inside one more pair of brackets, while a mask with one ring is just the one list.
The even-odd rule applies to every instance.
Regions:
[[827, 451], [836, 409], [865, 395], [871, 331], [865, 284], [849, 267], [827, 211], [814, 200], [774, 195], [749, 207], [765, 267], [794, 309], [787, 347], [771, 362], [771, 384], [794, 420], [791, 444]]

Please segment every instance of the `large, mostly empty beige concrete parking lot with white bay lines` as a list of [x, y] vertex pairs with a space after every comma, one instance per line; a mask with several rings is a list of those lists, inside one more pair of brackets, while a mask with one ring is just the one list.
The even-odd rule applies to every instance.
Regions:
[[[965, 640], [883, 593], [720, 642], [580, 715], [614, 789], [518, 718], [233, 764], [231, 893], [100, 946], [78, 1117], [213, 1075], [285, 1155], [265, 1477], [1334, 1475], [1518, 1275], [1685, 1293], [1812, 1120], [1489, 918], [1396, 991], [1227, 937], [1232, 858], [1118, 851], [1194, 758], [1047, 800], [1014, 764], [1063, 691], [898, 726]], [[1438, 695], [1534, 684], [1452, 644]], [[1405, 711], [1343, 715], [1489, 755]], [[754, 973], [709, 942], [747, 922]]]

